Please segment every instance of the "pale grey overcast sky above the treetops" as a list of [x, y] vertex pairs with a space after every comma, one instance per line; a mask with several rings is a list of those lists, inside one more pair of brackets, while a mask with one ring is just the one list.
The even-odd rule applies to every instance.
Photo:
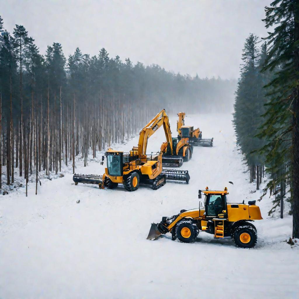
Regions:
[[237, 78], [249, 33], [265, 36], [271, 0], [0, 0], [4, 28], [22, 24], [41, 54], [53, 42], [67, 57], [100, 48], [133, 63], [199, 77]]

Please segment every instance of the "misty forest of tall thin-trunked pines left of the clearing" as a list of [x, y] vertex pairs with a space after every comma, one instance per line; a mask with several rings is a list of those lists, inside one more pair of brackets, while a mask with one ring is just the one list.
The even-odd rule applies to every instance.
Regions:
[[0, 32], [0, 188], [14, 183], [17, 169], [26, 194], [36, 176], [37, 192], [38, 172], [57, 174], [70, 163], [74, 172], [77, 155], [86, 165], [89, 154], [132, 137], [162, 108], [169, 115], [231, 110], [234, 80], [133, 65], [105, 48], [92, 57], [77, 48], [66, 58], [59, 42], [42, 55], [24, 26], [10, 34], [1, 17]]

